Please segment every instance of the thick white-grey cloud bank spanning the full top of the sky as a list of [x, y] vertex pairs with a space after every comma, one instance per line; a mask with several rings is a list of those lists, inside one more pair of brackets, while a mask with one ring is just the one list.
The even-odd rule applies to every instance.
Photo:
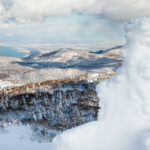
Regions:
[[43, 21], [49, 16], [70, 15], [73, 11], [126, 21], [150, 15], [149, 0], [0, 0], [0, 20], [9, 23]]

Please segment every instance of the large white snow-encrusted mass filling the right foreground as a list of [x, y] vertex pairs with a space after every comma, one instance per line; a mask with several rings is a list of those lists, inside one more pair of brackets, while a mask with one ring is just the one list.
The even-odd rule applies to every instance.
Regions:
[[[150, 150], [150, 18], [131, 21], [126, 38], [118, 76], [97, 87], [99, 120], [64, 132], [41, 150]], [[40, 149], [36, 146], [30, 149]]]

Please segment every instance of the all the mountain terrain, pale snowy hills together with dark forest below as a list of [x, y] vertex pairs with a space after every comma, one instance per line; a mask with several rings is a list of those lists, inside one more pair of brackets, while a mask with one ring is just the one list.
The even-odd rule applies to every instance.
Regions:
[[51, 141], [66, 129], [97, 120], [96, 85], [115, 76], [120, 65], [118, 49], [0, 57], [0, 129], [21, 123], [31, 127], [34, 140]]

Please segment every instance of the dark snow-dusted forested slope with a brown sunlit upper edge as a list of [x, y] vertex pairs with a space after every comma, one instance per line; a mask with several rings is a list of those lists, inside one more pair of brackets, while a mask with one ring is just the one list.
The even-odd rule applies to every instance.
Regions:
[[0, 91], [0, 124], [30, 125], [38, 141], [97, 119], [97, 82], [59, 80]]

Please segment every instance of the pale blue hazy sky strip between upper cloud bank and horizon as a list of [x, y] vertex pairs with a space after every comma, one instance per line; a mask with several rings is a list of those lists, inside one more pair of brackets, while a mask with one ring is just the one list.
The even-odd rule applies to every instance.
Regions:
[[[105, 18], [71, 15], [48, 18], [42, 23], [5, 24], [0, 28], [0, 41], [7, 42], [58, 42], [73, 40], [122, 41], [123, 24]], [[8, 36], [12, 35], [12, 36]]]

